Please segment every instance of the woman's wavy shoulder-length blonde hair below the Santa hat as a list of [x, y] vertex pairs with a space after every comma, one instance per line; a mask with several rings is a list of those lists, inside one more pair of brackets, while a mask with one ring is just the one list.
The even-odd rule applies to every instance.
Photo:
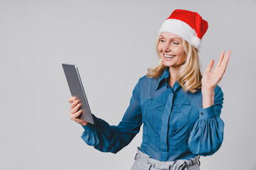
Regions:
[[[163, 60], [157, 50], [160, 38], [156, 43], [156, 52], [159, 57], [159, 65], [154, 68], [148, 68], [146, 77], [159, 79], [164, 73], [166, 66], [164, 66]], [[183, 88], [183, 91], [190, 91], [195, 93], [198, 89], [201, 89], [202, 74], [200, 70], [200, 63], [198, 57], [198, 50], [186, 40], [183, 40], [183, 48], [186, 53], [186, 62], [181, 65], [176, 74], [178, 84]]]

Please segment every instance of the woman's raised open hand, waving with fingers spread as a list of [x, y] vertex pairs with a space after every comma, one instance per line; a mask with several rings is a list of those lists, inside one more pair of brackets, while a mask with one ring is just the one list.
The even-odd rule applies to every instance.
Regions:
[[205, 72], [203, 72], [202, 88], [208, 89], [211, 91], [215, 89], [215, 87], [218, 85], [220, 80], [223, 78], [225, 69], [228, 66], [230, 53], [231, 51], [228, 51], [225, 55], [225, 51], [221, 52], [218, 64], [215, 66], [213, 70], [211, 69], [213, 68], [214, 60], [211, 60], [209, 62]]

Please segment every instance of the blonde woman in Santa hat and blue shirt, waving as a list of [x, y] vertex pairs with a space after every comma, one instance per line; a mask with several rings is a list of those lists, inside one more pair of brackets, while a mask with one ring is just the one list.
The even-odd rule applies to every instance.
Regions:
[[70, 118], [85, 129], [82, 139], [102, 152], [116, 153], [132, 141], [143, 123], [143, 141], [132, 169], [199, 169], [200, 155], [214, 154], [223, 142], [223, 92], [218, 86], [230, 57], [222, 52], [203, 76], [198, 48], [208, 29], [198, 13], [175, 10], [159, 30], [159, 66], [139, 79], [122, 121], [110, 126], [80, 120], [78, 100]]

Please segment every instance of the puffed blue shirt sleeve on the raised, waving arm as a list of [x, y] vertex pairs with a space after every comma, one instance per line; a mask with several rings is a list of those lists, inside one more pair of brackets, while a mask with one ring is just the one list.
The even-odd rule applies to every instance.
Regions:
[[224, 123], [220, 118], [223, 91], [220, 86], [216, 86], [214, 92], [214, 105], [199, 109], [199, 118], [188, 139], [188, 146], [193, 154], [203, 156], [214, 154], [223, 142]]

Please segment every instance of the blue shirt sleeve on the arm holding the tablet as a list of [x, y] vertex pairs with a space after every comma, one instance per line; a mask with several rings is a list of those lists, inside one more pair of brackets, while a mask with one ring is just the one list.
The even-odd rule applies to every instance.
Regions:
[[139, 107], [139, 82], [132, 92], [132, 98], [127, 111], [124, 113], [119, 125], [109, 125], [105, 120], [92, 115], [95, 124], [82, 126], [85, 131], [82, 133], [82, 140], [87, 145], [95, 147], [101, 152], [117, 153], [137, 135], [142, 125], [142, 112]]

